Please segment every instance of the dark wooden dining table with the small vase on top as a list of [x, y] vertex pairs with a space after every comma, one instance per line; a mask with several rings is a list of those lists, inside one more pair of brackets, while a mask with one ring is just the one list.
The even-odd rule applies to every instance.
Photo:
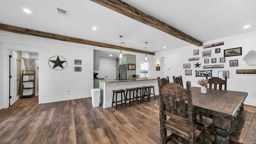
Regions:
[[[206, 94], [202, 94], [200, 87], [192, 87], [191, 90], [194, 113], [213, 120], [215, 144], [229, 144], [231, 122], [242, 108], [248, 93], [207, 88]], [[159, 95], [156, 98], [160, 106]]]

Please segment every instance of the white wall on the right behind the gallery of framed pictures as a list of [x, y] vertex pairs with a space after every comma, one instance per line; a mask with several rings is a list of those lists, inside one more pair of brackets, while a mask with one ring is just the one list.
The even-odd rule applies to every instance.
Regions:
[[[169, 51], [158, 52], [156, 53], [156, 57], [164, 57], [165, 58], [165, 69], [164, 69], [164, 77], [169, 76], [170, 81], [172, 81], [172, 76], [182, 76], [183, 83], [186, 81], [191, 81], [192, 86], [199, 86], [196, 81], [200, 78], [205, 77], [195, 77], [195, 70], [213, 70], [212, 76], [218, 77], [218, 71], [227, 70], [229, 71], [229, 78], [227, 80], [227, 90], [236, 90], [248, 92], [248, 96], [246, 98], [245, 104], [250, 104], [256, 106], [256, 74], [236, 74], [236, 69], [256, 69], [256, 66], [249, 66], [246, 62], [244, 62], [244, 56], [252, 49], [254, 44], [256, 43], [256, 31], [248, 32], [244, 34], [239, 34], [235, 36], [230, 36], [226, 38], [221, 38], [217, 40], [212, 40], [208, 42], [204, 42], [204, 45], [213, 44], [216, 42], [224, 41], [224, 45], [215, 46], [211, 48], [204, 48], [203, 46], [186, 46], [182, 48], [176, 48]], [[220, 63], [220, 58], [224, 57], [224, 50], [230, 48], [242, 47], [242, 55], [241, 56], [229, 56], [225, 57], [224, 63]], [[220, 48], [220, 53], [215, 54], [215, 48]], [[194, 50], [199, 49], [199, 55], [193, 54]], [[211, 50], [211, 57], [209, 58], [209, 63], [204, 64], [204, 59], [202, 58], [202, 51]], [[199, 57], [198, 61], [188, 61], [188, 58]], [[211, 59], [216, 58], [216, 63], [211, 63]], [[230, 67], [230, 60], [238, 60], [237, 67]], [[196, 62], [200, 62], [202, 64], [201, 68], [194, 68], [194, 64]], [[190, 69], [184, 69], [183, 64], [191, 64]], [[215, 64], [224, 64], [224, 68], [211, 68], [211, 69], [203, 69], [204, 65], [215, 65]], [[170, 69], [170, 70], [168, 70]], [[192, 70], [192, 76], [185, 76], [185, 70]]]

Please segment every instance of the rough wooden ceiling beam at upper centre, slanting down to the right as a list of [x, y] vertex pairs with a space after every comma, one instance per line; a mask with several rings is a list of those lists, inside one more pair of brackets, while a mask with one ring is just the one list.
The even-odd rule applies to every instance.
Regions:
[[91, 1], [96, 2], [97, 4], [100, 4], [111, 10], [114, 10], [120, 14], [133, 18], [134, 20], [147, 24], [148, 26], [152, 26], [153, 28], [166, 32], [167, 34], [175, 36], [176, 38], [179, 38], [181, 40], [184, 40], [196, 46], [203, 45], [203, 43], [197, 40], [196, 38], [193, 38], [192, 36], [185, 34], [184, 32], [130, 6], [129, 4], [122, 2], [121, 0], [91, 0]]

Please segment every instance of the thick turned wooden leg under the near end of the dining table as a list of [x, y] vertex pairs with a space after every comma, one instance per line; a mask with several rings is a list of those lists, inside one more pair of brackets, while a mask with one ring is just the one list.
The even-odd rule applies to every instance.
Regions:
[[215, 144], [229, 144], [229, 129], [230, 120], [213, 116], [213, 124], [215, 126], [214, 143]]

